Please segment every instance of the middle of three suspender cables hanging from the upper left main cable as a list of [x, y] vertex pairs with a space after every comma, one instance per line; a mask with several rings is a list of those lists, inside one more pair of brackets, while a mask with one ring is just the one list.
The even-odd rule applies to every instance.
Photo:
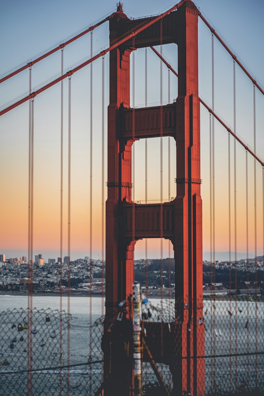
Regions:
[[[64, 47], [63, 47], [64, 48]], [[61, 75], [63, 75], [63, 48], [61, 48]], [[61, 81], [61, 222], [60, 222], [60, 396], [62, 395], [62, 248], [63, 248], [63, 80]]]

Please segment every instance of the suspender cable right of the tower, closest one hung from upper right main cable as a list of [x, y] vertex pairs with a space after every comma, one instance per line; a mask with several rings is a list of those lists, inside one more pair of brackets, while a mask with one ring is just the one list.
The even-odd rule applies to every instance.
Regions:
[[[215, 111], [215, 77], [214, 77], [214, 35], [212, 33], [212, 109]], [[212, 119], [212, 171], [213, 171], [213, 291], [215, 306], [215, 119]], [[213, 310], [213, 352], [215, 356], [215, 308]], [[214, 390], [215, 390], [215, 358], [214, 358]]]

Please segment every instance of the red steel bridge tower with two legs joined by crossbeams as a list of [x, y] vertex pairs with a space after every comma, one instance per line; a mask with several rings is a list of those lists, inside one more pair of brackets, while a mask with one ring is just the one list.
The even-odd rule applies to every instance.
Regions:
[[[106, 317], [116, 317], [118, 303], [132, 293], [133, 256], [137, 239], [168, 238], [175, 254], [176, 299], [184, 299], [187, 308], [176, 306], [180, 315], [180, 350], [171, 356], [174, 394], [187, 392], [204, 394], [204, 327], [198, 324], [202, 307], [202, 203], [200, 196], [200, 118], [198, 97], [198, 10], [193, 2], [181, 2], [177, 12], [163, 14], [164, 30], [174, 24], [176, 34], [171, 42], [178, 44], [178, 98], [173, 110], [174, 133], [177, 141], [177, 197], [160, 204], [135, 204], [131, 199], [132, 155], [136, 137], [156, 135], [158, 121], [150, 125], [147, 114], [160, 116], [157, 109], [130, 109], [131, 51], [139, 46], [150, 46], [157, 39], [158, 25], [140, 36], [134, 46], [127, 42], [136, 32], [147, 29], [145, 22], [133, 33], [126, 15], [119, 11], [110, 21], [110, 104], [108, 106], [108, 199], [106, 201]], [[168, 15], [168, 13], [167, 13]], [[167, 22], [168, 24], [167, 24]], [[138, 21], [137, 21], [138, 23]], [[159, 25], [160, 26], [160, 25]], [[167, 31], [167, 30], [166, 30]], [[152, 34], [152, 36], [151, 36]], [[148, 38], [147, 38], [148, 36]], [[162, 35], [163, 37], [164, 35]], [[130, 38], [129, 38], [130, 37]], [[153, 39], [154, 37], [154, 39]], [[169, 36], [166, 36], [169, 40]], [[167, 42], [166, 41], [166, 42]], [[119, 43], [118, 45], [116, 43]], [[122, 45], [123, 44], [123, 45]], [[164, 44], [164, 42], [163, 42]], [[163, 107], [166, 109], [166, 106]], [[162, 112], [162, 115], [163, 115]], [[133, 113], [135, 122], [133, 122]], [[162, 116], [163, 118], [163, 116]], [[124, 121], [125, 120], [125, 121]], [[175, 123], [176, 120], [176, 123]], [[135, 133], [133, 133], [135, 126]], [[164, 126], [164, 125], [163, 125]], [[139, 133], [137, 134], [137, 130]], [[164, 133], [163, 133], [164, 134]], [[133, 221], [133, 208], [135, 223]], [[162, 224], [160, 222], [162, 219]], [[191, 329], [191, 331], [187, 331]], [[179, 359], [180, 358], [180, 359]], [[105, 367], [107, 368], [107, 357]], [[179, 363], [180, 362], [180, 363]], [[121, 368], [122, 370], [122, 368]], [[122, 374], [120, 374], [122, 375]], [[107, 393], [107, 392], [106, 392]]]

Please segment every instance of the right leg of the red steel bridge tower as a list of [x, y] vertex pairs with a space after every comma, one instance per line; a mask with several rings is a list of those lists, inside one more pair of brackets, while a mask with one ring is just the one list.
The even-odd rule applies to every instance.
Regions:
[[[198, 10], [188, 1], [177, 11], [178, 98], [176, 101], [175, 198], [175, 298], [184, 298], [182, 325], [181, 377], [173, 372], [173, 382], [182, 383], [182, 391], [204, 393], [204, 328], [199, 326], [198, 307], [202, 306], [202, 202], [200, 184], [200, 111], [198, 97]], [[181, 182], [180, 182], [181, 181]], [[192, 299], [194, 307], [190, 307]], [[187, 329], [191, 331], [186, 331]], [[190, 356], [194, 356], [191, 359]], [[196, 387], [196, 389], [194, 389]]]

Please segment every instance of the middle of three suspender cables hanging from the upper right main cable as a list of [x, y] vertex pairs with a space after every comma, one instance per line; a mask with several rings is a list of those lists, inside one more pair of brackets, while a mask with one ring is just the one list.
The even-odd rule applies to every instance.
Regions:
[[[236, 62], [233, 59], [234, 133], [236, 135]], [[234, 138], [234, 228], [235, 228], [235, 386], [237, 390], [237, 198], [236, 198], [236, 139]]]

